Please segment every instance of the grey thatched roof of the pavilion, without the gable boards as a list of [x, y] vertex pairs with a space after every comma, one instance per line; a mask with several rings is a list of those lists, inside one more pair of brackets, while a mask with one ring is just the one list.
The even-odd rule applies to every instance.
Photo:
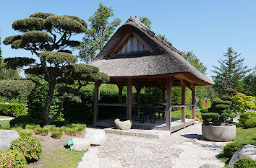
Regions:
[[[152, 50], [111, 55], [116, 45], [130, 32], [140, 36]], [[197, 85], [213, 84], [182, 57], [181, 51], [149, 30], [135, 17], [130, 17], [124, 25], [119, 27], [90, 65], [97, 66], [110, 77], [182, 74]]]

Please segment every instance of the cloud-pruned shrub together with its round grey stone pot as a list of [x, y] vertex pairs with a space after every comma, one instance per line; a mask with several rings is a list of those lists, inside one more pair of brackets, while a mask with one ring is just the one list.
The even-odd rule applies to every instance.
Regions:
[[236, 137], [236, 125], [226, 121], [231, 117], [230, 101], [213, 100], [212, 107], [202, 109], [202, 136], [210, 141], [231, 141]]

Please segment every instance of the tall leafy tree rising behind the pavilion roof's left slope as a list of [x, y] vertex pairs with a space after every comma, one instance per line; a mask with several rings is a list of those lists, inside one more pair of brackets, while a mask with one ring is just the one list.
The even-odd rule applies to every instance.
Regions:
[[113, 9], [100, 3], [97, 11], [88, 19], [90, 28], [85, 30], [82, 43], [77, 47], [80, 50], [79, 57], [83, 61], [88, 63], [95, 58], [96, 53], [103, 48], [116, 27], [120, 25], [121, 19], [117, 17], [112, 22], [109, 21], [113, 16]]

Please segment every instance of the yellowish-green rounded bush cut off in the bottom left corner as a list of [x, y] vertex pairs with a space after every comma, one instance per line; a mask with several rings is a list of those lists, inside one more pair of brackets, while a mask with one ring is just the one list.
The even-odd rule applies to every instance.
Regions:
[[0, 151], [0, 167], [25, 167], [25, 156], [17, 150]]

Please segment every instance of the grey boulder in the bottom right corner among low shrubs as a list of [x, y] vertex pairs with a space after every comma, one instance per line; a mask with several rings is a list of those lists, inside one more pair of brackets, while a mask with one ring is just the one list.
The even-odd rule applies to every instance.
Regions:
[[229, 166], [233, 167], [234, 163], [240, 159], [240, 157], [249, 157], [250, 159], [256, 159], [256, 146], [246, 145], [242, 147], [239, 151], [236, 151], [231, 160], [229, 161]]

